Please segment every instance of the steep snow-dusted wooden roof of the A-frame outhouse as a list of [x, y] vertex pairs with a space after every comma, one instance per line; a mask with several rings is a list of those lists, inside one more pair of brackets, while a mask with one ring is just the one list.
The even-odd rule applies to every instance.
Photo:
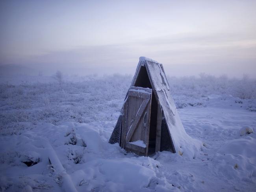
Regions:
[[201, 143], [187, 135], [182, 125], [180, 116], [174, 104], [174, 100], [171, 96], [171, 90], [163, 70], [163, 65], [147, 57], [140, 57], [131, 85], [135, 86], [137, 79], [139, 79], [139, 72], [143, 66], [145, 66], [147, 70], [148, 78], [150, 80], [154, 95], [161, 105], [163, 112], [162, 118], [165, 118], [169, 137], [173, 142], [173, 152], [183, 154], [184, 151], [187, 151], [187, 153], [194, 155], [195, 151], [198, 151], [198, 149], [201, 147]]

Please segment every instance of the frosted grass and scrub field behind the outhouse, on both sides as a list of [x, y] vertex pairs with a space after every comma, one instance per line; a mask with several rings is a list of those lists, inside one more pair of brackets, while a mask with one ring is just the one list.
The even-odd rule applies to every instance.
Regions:
[[[96, 120], [116, 120], [132, 76], [65, 77], [57, 72], [52, 77], [0, 77], [0, 133], [19, 134], [42, 122], [87, 123]], [[256, 81], [215, 78], [201, 74], [200, 78], [169, 78], [171, 92], [178, 108], [205, 106], [208, 96], [232, 95], [240, 99], [256, 98]], [[237, 99], [236, 102], [243, 103]], [[250, 111], [256, 106], [248, 105]]]

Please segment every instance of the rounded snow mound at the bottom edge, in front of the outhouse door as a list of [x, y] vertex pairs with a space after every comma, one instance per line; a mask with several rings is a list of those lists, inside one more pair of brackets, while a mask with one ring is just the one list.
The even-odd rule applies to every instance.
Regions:
[[150, 181], [158, 180], [156, 164], [159, 162], [147, 157], [95, 159], [83, 164], [83, 169], [72, 173], [71, 177], [75, 185], [84, 179], [86, 191], [93, 187], [113, 192], [148, 191]]

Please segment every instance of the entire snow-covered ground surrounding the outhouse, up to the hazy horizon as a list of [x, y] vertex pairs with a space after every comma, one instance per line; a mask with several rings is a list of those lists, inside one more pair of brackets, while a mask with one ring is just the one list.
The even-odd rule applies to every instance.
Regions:
[[[0, 77], [0, 190], [255, 191], [256, 82], [169, 78], [187, 133], [204, 147], [137, 157], [109, 144], [132, 76]], [[250, 134], [248, 134], [250, 133]], [[54, 149], [65, 168], [49, 163]]]

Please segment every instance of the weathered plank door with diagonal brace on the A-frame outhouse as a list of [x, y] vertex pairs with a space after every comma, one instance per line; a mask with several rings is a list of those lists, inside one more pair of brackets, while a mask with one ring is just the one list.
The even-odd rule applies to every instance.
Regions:
[[124, 102], [121, 146], [137, 155], [148, 155], [152, 89], [131, 86]]

